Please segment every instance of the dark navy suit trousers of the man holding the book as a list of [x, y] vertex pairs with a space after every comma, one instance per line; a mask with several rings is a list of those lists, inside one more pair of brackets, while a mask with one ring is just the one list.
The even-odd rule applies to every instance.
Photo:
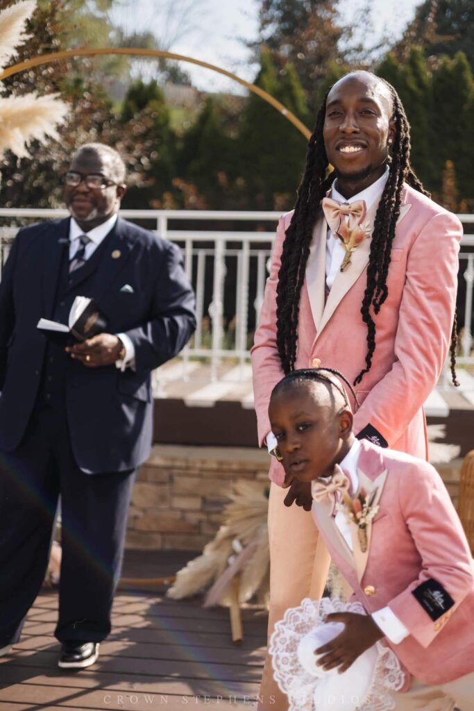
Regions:
[[63, 562], [55, 636], [107, 637], [135, 471], [85, 474], [72, 456], [65, 413], [48, 407], [33, 412], [19, 447], [0, 451], [0, 647], [18, 641], [43, 583], [59, 494]]

